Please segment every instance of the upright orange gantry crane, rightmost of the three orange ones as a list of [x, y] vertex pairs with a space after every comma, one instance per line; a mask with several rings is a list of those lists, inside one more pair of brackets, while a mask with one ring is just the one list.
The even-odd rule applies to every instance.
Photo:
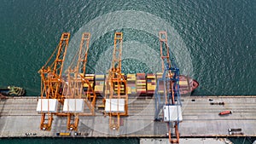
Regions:
[[[105, 113], [109, 128], [119, 130], [120, 116], [128, 116], [128, 91], [125, 76], [121, 73], [123, 33], [114, 33], [113, 60], [106, 78]], [[116, 118], [113, 118], [116, 117]]]

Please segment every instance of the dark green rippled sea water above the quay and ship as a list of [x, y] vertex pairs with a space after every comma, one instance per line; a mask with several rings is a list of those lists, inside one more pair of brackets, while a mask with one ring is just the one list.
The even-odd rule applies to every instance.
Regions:
[[255, 0], [1, 0], [0, 86], [40, 95], [38, 70], [62, 32], [71, 33], [68, 49], [77, 49], [80, 32], [91, 33], [88, 73], [105, 73], [118, 31], [123, 71], [156, 72], [162, 30], [181, 72], [201, 84], [194, 95], [256, 95], [255, 15]]

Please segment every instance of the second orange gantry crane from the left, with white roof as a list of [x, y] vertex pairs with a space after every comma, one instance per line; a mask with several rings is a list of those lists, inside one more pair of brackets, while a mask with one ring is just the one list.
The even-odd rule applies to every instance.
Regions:
[[[84, 32], [79, 51], [67, 70], [67, 92], [65, 92], [67, 99], [63, 108], [63, 111], [67, 112], [67, 130], [78, 130], [79, 116], [95, 115], [96, 93], [85, 78], [89, 44], [90, 33]], [[84, 105], [79, 105], [84, 102], [89, 112], [84, 112]]]

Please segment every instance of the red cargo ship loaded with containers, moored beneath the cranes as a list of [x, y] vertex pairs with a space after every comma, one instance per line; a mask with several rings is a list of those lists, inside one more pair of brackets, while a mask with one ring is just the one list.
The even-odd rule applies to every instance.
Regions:
[[[124, 74], [127, 80], [127, 91], [129, 96], [153, 96], [157, 85], [157, 80], [162, 78], [162, 73], [156, 74]], [[96, 92], [98, 96], [104, 96], [106, 87], [106, 78], [104, 74], [85, 74], [85, 79], [90, 82], [90, 86]], [[188, 76], [179, 76], [180, 94], [190, 95], [198, 86], [198, 82]], [[88, 84], [84, 84], [84, 93], [88, 89]], [[114, 89], [115, 90], [115, 89]], [[125, 92], [125, 87], [121, 89]], [[64, 90], [66, 91], [66, 90]], [[122, 92], [121, 91], [121, 92]], [[159, 84], [159, 92], [164, 92], [163, 82]]]

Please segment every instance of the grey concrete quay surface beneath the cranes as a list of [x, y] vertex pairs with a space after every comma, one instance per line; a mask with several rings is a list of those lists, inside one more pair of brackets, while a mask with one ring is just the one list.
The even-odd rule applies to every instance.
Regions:
[[[40, 130], [41, 114], [36, 111], [36, 96], [9, 97], [0, 100], [0, 136], [58, 136], [70, 132], [80, 137], [143, 137], [165, 138], [166, 123], [154, 122], [154, 99], [130, 98], [128, 117], [121, 118], [119, 130], [110, 130], [108, 116], [96, 110], [96, 116], [80, 116], [79, 130], [67, 130], [67, 117], [54, 116], [52, 130]], [[211, 102], [221, 103], [212, 105]], [[223, 104], [224, 102], [224, 104]], [[256, 96], [186, 96], [182, 97], [183, 122], [179, 124], [182, 138], [256, 136]], [[219, 112], [232, 111], [219, 116]], [[241, 131], [229, 131], [241, 129]]]

